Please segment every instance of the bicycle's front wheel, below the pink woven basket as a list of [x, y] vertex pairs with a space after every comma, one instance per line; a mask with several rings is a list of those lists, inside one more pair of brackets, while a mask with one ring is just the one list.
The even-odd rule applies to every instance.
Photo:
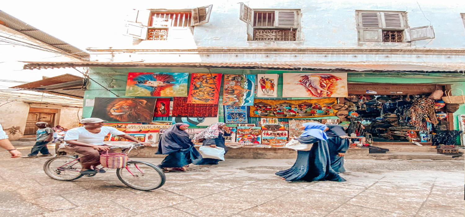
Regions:
[[158, 166], [143, 162], [129, 161], [125, 168], [118, 168], [116, 175], [123, 184], [141, 191], [150, 191], [165, 184], [165, 173]]

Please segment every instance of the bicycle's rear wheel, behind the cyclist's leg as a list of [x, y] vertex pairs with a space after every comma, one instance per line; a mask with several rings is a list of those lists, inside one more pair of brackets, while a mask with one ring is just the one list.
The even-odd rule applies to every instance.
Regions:
[[79, 172], [81, 168], [81, 163], [71, 156], [50, 158], [44, 164], [45, 174], [50, 178], [61, 181], [81, 178], [83, 176]]

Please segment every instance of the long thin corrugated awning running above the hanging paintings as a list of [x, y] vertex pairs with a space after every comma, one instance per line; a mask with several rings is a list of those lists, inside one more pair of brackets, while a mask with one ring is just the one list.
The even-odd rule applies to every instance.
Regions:
[[459, 72], [465, 63], [404, 63], [404, 62], [195, 62], [195, 63], [143, 63], [143, 62], [26, 62], [24, 69], [66, 67], [179, 67], [179, 68], [232, 68], [272, 69], [331, 72]]

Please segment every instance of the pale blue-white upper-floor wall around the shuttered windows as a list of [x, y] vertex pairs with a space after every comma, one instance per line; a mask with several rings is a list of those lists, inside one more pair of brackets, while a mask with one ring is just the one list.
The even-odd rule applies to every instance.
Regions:
[[[152, 9], [152, 13], [147, 10], [141, 10], [136, 18], [137, 22], [144, 26], [154, 26], [155, 17], [159, 22], [163, 22], [162, 17], [156, 16], [156, 13], [191, 13], [195, 16], [197, 8], [203, 8], [213, 4], [209, 13], [207, 23], [191, 26], [191, 22], [185, 22], [186, 18], [179, 21], [175, 27], [167, 30], [166, 40], [146, 40], [152, 37], [154, 31], [142, 33], [143, 39], [127, 37], [126, 42], [131, 41], [133, 46], [121, 42], [114, 48], [126, 49], [195, 49], [197, 47], [398, 47], [398, 48], [463, 48], [465, 47], [465, 26], [464, 18], [461, 13], [465, 13], [465, 3], [458, 3], [454, 0], [437, 1], [419, 1], [404, 0], [399, 2], [379, 2], [374, 0], [346, 0], [346, 1], [308, 1], [308, 0], [276, 0], [276, 1], [259, 1], [250, 0], [241, 7], [240, 3], [231, 2], [230, 0], [198, 0], [198, 1], [164, 1], [153, 4], [140, 6], [147, 8], [164, 8]], [[186, 9], [187, 8], [187, 9]], [[247, 13], [244, 8], [250, 8], [254, 12], [261, 12], [261, 17], [257, 19], [257, 13], [250, 13], [252, 16], [247, 22]], [[296, 25], [288, 24], [278, 25], [281, 16], [279, 10], [283, 12], [295, 11]], [[359, 16], [356, 11], [393, 11], [402, 13], [401, 19], [405, 23], [397, 30], [404, 33], [401, 42], [377, 42], [377, 40], [360, 39]], [[197, 9], [197, 13], [202, 13]], [[144, 15], [148, 14], [148, 15]], [[244, 15], [245, 14], [245, 15]], [[253, 15], [252, 15], [253, 14]], [[263, 15], [265, 14], [265, 18]], [[288, 13], [287, 15], [289, 15]], [[283, 14], [286, 15], [286, 14]], [[137, 15], [136, 15], [137, 16]], [[170, 15], [168, 15], [168, 18]], [[246, 18], [244, 19], [244, 16]], [[255, 18], [253, 18], [255, 16]], [[274, 16], [274, 17], [273, 17]], [[289, 15], [292, 16], [292, 15]], [[284, 16], [283, 16], [284, 17]], [[166, 18], [166, 15], [165, 15]], [[170, 21], [173, 21], [173, 17]], [[286, 17], [284, 17], [286, 18]], [[190, 19], [190, 18], [187, 18]], [[273, 19], [276, 20], [274, 23]], [[384, 18], [383, 18], [384, 19]], [[133, 17], [129, 16], [129, 19]], [[253, 21], [255, 22], [253, 22]], [[257, 24], [257, 21], [261, 24]], [[265, 21], [266, 20], [266, 21]], [[381, 20], [380, 20], [381, 21]], [[384, 22], [384, 20], [383, 20]], [[265, 23], [265, 24], [263, 24]], [[271, 24], [270, 24], [271, 23]], [[183, 25], [185, 24], [185, 25]], [[198, 23], [197, 23], [198, 24]], [[291, 27], [289, 27], [291, 26]], [[434, 30], [433, 39], [420, 39], [411, 41], [405, 39], [406, 30], [420, 27], [432, 26]], [[183, 27], [187, 31], [182, 31]], [[287, 31], [284, 34], [295, 34], [296, 40], [279, 41], [274, 40], [254, 40], [254, 30], [267, 29]], [[152, 28], [154, 29], [154, 28]], [[156, 29], [156, 28], [155, 28]], [[270, 31], [271, 31], [270, 30]], [[273, 30], [273, 33], [279, 34], [279, 31]], [[262, 31], [263, 33], [264, 31]], [[374, 33], [374, 32], [371, 32]], [[370, 36], [369, 33], [367, 36]], [[395, 32], [394, 32], [395, 33]], [[170, 35], [171, 34], [171, 35]], [[393, 33], [392, 33], [393, 34]], [[251, 37], [252, 35], [252, 37]], [[163, 37], [163, 36], [161, 36]], [[273, 36], [274, 37], [274, 36]], [[376, 37], [374, 35], [373, 37]], [[269, 39], [270, 37], [268, 37]], [[431, 38], [431, 37], [430, 37]], [[126, 44], [126, 46], [124, 45]]]

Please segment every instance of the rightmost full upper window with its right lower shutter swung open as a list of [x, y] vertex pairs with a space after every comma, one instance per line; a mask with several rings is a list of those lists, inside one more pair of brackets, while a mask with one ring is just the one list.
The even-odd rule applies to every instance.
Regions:
[[405, 12], [356, 11], [359, 41], [410, 42], [433, 39], [432, 26], [408, 28]]

